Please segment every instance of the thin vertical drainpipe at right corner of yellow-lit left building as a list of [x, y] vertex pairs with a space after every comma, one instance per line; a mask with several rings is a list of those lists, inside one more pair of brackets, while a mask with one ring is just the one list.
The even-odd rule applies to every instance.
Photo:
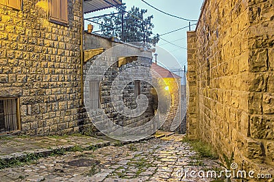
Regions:
[[82, 1], [82, 23], [81, 23], [81, 104], [84, 106], [84, 0]]

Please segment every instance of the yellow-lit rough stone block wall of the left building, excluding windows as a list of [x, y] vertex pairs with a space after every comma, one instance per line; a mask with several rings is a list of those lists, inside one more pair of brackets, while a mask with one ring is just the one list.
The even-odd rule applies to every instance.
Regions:
[[19, 98], [24, 134], [78, 130], [82, 1], [68, 2], [66, 26], [49, 22], [38, 0], [22, 11], [0, 5], [0, 97]]

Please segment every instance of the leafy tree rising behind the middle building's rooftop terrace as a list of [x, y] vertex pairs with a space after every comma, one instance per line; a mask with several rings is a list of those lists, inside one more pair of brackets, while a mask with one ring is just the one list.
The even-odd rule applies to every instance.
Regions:
[[[125, 10], [126, 6], [123, 4], [121, 9]], [[103, 35], [111, 37], [119, 37], [122, 40], [122, 14], [124, 14], [124, 42], [148, 42], [156, 44], [159, 41], [159, 35], [153, 36], [152, 29], [154, 28], [151, 20], [153, 15], [147, 16], [147, 10], [142, 10], [139, 7], [132, 7], [129, 14], [119, 10], [119, 14], [112, 16], [104, 16], [98, 22]], [[113, 13], [113, 12], [112, 12]], [[142, 21], [144, 20], [144, 21]]]

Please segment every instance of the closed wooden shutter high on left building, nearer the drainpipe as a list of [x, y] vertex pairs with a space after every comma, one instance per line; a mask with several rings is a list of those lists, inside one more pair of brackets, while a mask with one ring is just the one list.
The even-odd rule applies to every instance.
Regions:
[[68, 1], [49, 0], [49, 18], [50, 20], [67, 23], [69, 21]]

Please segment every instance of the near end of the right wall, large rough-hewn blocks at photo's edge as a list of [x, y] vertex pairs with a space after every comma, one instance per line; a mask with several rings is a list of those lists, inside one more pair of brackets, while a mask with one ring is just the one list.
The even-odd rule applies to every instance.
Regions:
[[[274, 166], [274, 2], [249, 2], [248, 109], [250, 145], [247, 154]], [[259, 147], [260, 146], [260, 147]]]

